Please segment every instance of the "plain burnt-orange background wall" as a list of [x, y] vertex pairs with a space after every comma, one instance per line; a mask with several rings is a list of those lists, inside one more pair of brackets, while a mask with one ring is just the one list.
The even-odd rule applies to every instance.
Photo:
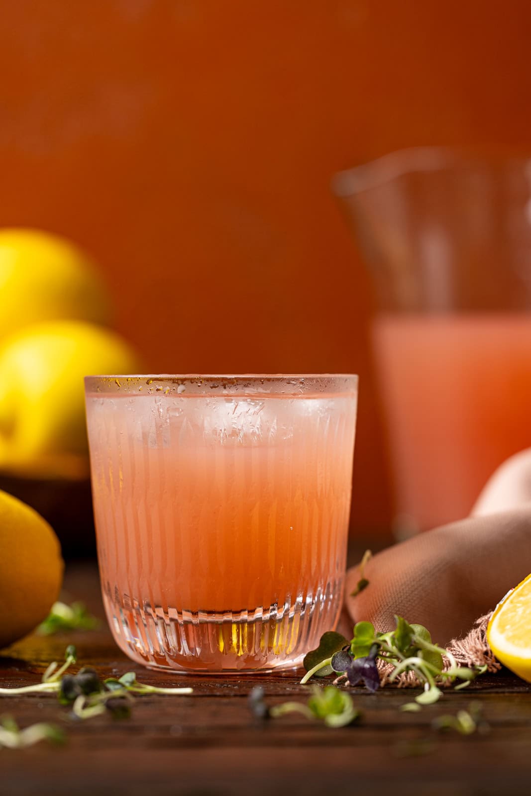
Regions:
[[361, 374], [353, 517], [388, 493], [369, 291], [330, 177], [531, 143], [528, 0], [0, 0], [0, 224], [87, 247], [152, 372]]

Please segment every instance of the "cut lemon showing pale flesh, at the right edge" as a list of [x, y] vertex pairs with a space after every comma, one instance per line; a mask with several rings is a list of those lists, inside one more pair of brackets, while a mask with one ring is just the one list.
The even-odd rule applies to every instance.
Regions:
[[531, 575], [498, 603], [486, 638], [498, 661], [531, 682]]

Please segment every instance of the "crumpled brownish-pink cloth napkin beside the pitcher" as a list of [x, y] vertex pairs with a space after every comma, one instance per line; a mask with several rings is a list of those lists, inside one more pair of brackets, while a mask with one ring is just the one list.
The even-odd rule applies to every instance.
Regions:
[[418, 622], [439, 644], [463, 637], [531, 572], [531, 449], [490, 478], [470, 517], [378, 553], [365, 566], [369, 585], [349, 596], [359, 567], [346, 577], [354, 622], [391, 630], [394, 615]]

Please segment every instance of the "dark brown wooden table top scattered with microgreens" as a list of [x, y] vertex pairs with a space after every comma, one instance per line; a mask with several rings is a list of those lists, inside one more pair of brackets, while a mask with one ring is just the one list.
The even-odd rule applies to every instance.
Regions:
[[[65, 585], [68, 599], [84, 599], [103, 616], [95, 568], [70, 568]], [[0, 712], [14, 716], [21, 727], [53, 721], [68, 732], [63, 747], [41, 743], [1, 750], [2, 796], [529, 792], [531, 693], [508, 673], [445, 693], [439, 704], [418, 713], [398, 710], [411, 700], [411, 691], [386, 687], [370, 695], [353, 689], [363, 716], [347, 728], [326, 728], [302, 716], [260, 723], [248, 710], [252, 687], [262, 685], [271, 704], [303, 700], [307, 687], [299, 685], [300, 673], [226, 679], [158, 673], [123, 656], [103, 626], [19, 642], [0, 655], [1, 685], [40, 681], [68, 643], [76, 645], [81, 665], [93, 665], [105, 676], [135, 669], [139, 680], [152, 685], [192, 685], [193, 695], [142, 696], [128, 720], [106, 715], [78, 723], [68, 720], [68, 708], [53, 696], [0, 697]], [[460, 736], [431, 727], [435, 716], [455, 714], [472, 700], [482, 704], [486, 734]]]

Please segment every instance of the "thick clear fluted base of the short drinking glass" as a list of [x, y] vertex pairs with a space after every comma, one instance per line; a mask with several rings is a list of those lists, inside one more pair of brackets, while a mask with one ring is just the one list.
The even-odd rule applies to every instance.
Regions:
[[295, 603], [252, 611], [163, 610], [111, 590], [103, 602], [115, 641], [137, 663], [196, 674], [267, 673], [300, 665], [321, 635], [334, 630], [342, 579]]

